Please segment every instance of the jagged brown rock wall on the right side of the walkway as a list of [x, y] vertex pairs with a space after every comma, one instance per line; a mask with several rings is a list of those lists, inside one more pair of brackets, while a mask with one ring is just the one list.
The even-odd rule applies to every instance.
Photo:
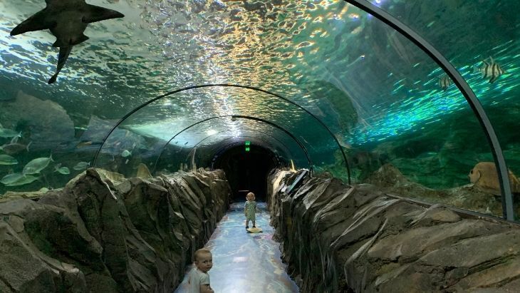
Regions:
[[[518, 292], [520, 226], [374, 185], [271, 173], [271, 224], [301, 292]], [[279, 182], [279, 184], [276, 184]]]

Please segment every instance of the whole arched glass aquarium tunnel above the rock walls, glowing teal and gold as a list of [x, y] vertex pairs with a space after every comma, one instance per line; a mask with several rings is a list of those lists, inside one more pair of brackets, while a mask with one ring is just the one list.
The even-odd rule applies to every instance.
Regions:
[[140, 164], [223, 168], [238, 192], [247, 164], [293, 164], [519, 221], [518, 1], [89, 4], [125, 17], [89, 24], [49, 85], [54, 37], [9, 36], [45, 2], [0, 2], [0, 194]]

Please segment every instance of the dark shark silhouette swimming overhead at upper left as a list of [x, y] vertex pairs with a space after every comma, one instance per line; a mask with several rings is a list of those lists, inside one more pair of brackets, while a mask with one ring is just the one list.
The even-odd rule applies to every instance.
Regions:
[[48, 80], [54, 83], [65, 65], [72, 47], [88, 40], [83, 32], [88, 24], [106, 19], [124, 17], [118, 11], [104, 7], [90, 5], [85, 0], [46, 0], [46, 7], [36, 12], [11, 31], [11, 36], [24, 34], [28, 31], [41, 31], [48, 29], [56, 42], [53, 47], [60, 48], [58, 53], [58, 66], [56, 73]]

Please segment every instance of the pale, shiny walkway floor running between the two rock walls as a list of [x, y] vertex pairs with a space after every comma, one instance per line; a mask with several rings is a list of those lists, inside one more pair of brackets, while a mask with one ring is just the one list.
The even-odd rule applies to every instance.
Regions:
[[[246, 232], [244, 202], [239, 202], [229, 208], [207, 242], [206, 247], [213, 254], [209, 277], [215, 293], [299, 292], [286, 273], [286, 264], [281, 262], [279, 243], [271, 239], [274, 228], [269, 226], [265, 202], [259, 202], [259, 209], [256, 227], [264, 232]], [[184, 277], [175, 293], [187, 292], [187, 277]]]

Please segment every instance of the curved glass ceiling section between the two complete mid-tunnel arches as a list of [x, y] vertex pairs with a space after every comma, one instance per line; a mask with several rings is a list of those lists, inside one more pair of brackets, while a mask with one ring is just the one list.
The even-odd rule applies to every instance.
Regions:
[[[194, 101], [197, 103], [194, 103]], [[184, 104], [184, 107], [181, 108], [182, 111], [179, 113], [179, 103], [183, 102], [187, 103]], [[257, 111], [256, 108], [259, 105], [269, 105], [269, 112]], [[194, 114], [185, 115], [183, 111], [190, 108]], [[212, 116], [212, 112], [208, 110], [211, 108], [214, 109], [213, 113], [220, 115]], [[215, 108], [217, 109], [215, 110]], [[231, 115], [229, 113], [236, 114]], [[335, 160], [331, 155], [331, 149], [332, 151], [339, 151], [344, 161], [343, 168], [345, 168], [347, 175], [350, 174], [338, 138], [316, 115], [298, 106], [298, 104], [268, 91], [249, 86], [227, 84], [192, 86], [171, 91], [130, 111], [116, 123], [113, 130], [110, 130], [103, 140], [98, 154], [95, 155], [94, 164], [103, 168], [111, 165], [112, 167], [109, 169], [113, 170], [117, 168], [117, 165], [128, 163], [126, 160], [112, 163], [115, 162], [114, 153], [120, 154], [130, 148], [129, 143], [121, 143], [123, 140], [127, 140], [128, 134], [125, 132], [123, 135], [120, 130], [131, 130], [132, 133], [155, 138], [157, 142], [152, 148], [159, 150], [157, 160], [160, 160], [162, 149], [170, 144], [170, 141], [175, 139], [176, 135], [193, 125], [215, 117], [249, 118], [274, 125], [276, 128], [283, 130], [286, 135], [291, 136], [301, 146], [303, 152], [306, 153], [308, 163], [312, 162], [313, 157], [318, 157], [322, 165], [331, 163]], [[233, 123], [229, 123], [227, 120], [221, 120], [219, 123], [225, 123], [228, 127], [233, 126]], [[207, 124], [207, 129], [202, 130], [202, 132], [209, 131], [213, 127], [213, 124]], [[236, 125], [234, 127], [236, 132], [239, 133], [240, 129]], [[131, 137], [128, 138], [128, 140], [131, 139]], [[164, 146], [160, 146], [161, 141], [163, 141]], [[194, 141], [187, 141], [185, 145], [192, 146]], [[131, 148], [134, 150], [135, 146], [132, 145]], [[150, 148], [147, 149], [150, 150]], [[98, 162], [101, 153], [105, 153], [105, 158], [102, 159], [103, 163]], [[312, 170], [313, 165], [310, 164], [309, 168]], [[350, 182], [349, 176], [346, 179]]]

